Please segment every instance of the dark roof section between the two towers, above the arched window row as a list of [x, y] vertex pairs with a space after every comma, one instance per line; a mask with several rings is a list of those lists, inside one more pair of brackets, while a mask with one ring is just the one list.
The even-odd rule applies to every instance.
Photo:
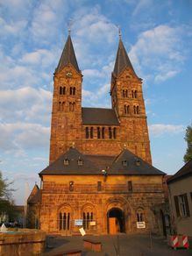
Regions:
[[82, 108], [82, 124], [119, 125], [112, 109]]

